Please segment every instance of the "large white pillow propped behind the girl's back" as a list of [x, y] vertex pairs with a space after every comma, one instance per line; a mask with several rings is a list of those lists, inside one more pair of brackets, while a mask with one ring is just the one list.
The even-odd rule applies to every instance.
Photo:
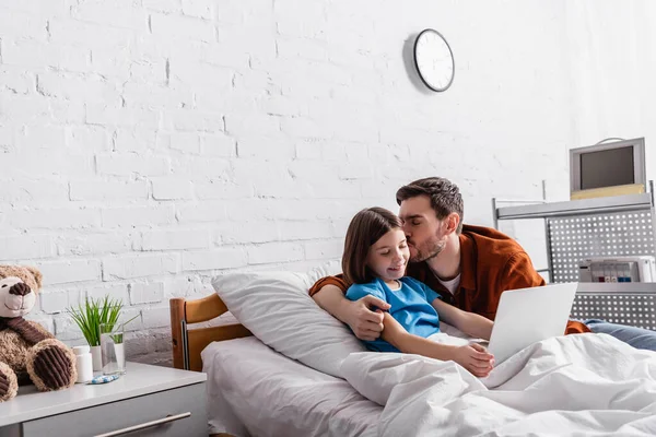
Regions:
[[307, 273], [256, 272], [216, 276], [212, 286], [235, 318], [265, 344], [325, 374], [343, 378], [342, 362], [364, 345], [307, 294], [338, 265]]

